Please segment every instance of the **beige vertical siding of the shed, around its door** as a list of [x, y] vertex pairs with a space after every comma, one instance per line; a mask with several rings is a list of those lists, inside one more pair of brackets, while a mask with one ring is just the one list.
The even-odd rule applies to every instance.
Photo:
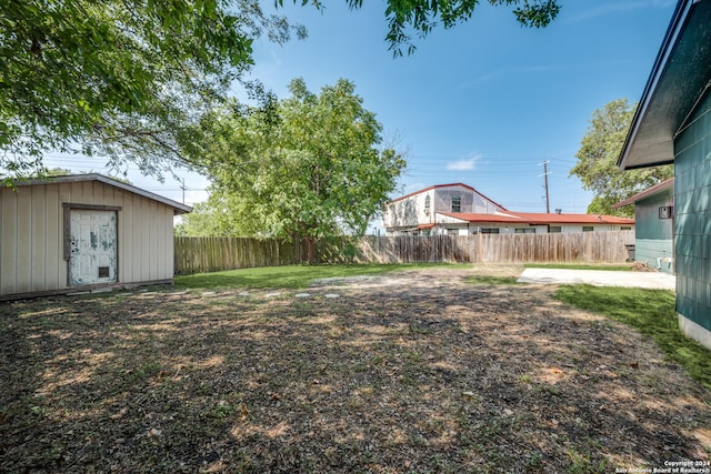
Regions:
[[173, 209], [99, 181], [0, 188], [0, 295], [69, 289], [63, 204], [120, 206], [118, 283], [173, 278]]

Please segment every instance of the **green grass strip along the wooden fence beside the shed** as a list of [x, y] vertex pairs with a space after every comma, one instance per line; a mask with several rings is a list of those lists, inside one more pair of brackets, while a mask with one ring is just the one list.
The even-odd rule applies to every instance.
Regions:
[[319, 279], [378, 275], [387, 272], [432, 266], [470, 268], [467, 264], [454, 265], [445, 263], [266, 266], [179, 275], [176, 276], [176, 286], [186, 289], [304, 289]]

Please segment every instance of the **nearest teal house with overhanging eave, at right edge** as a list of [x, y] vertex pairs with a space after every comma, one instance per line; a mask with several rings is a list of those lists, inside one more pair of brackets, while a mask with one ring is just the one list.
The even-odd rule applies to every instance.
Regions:
[[677, 313], [711, 349], [711, 0], [681, 0], [618, 164], [674, 163]]

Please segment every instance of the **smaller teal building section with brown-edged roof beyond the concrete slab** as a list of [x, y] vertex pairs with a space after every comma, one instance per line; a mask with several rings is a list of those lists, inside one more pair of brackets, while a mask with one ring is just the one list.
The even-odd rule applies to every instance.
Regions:
[[634, 204], [634, 260], [674, 273], [674, 179], [613, 205]]

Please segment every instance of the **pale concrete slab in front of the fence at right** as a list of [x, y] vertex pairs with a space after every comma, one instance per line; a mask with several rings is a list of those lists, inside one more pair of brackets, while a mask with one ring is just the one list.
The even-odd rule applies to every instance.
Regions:
[[630, 286], [658, 290], [677, 289], [677, 278], [662, 272], [614, 272], [605, 270], [525, 269], [519, 283]]

